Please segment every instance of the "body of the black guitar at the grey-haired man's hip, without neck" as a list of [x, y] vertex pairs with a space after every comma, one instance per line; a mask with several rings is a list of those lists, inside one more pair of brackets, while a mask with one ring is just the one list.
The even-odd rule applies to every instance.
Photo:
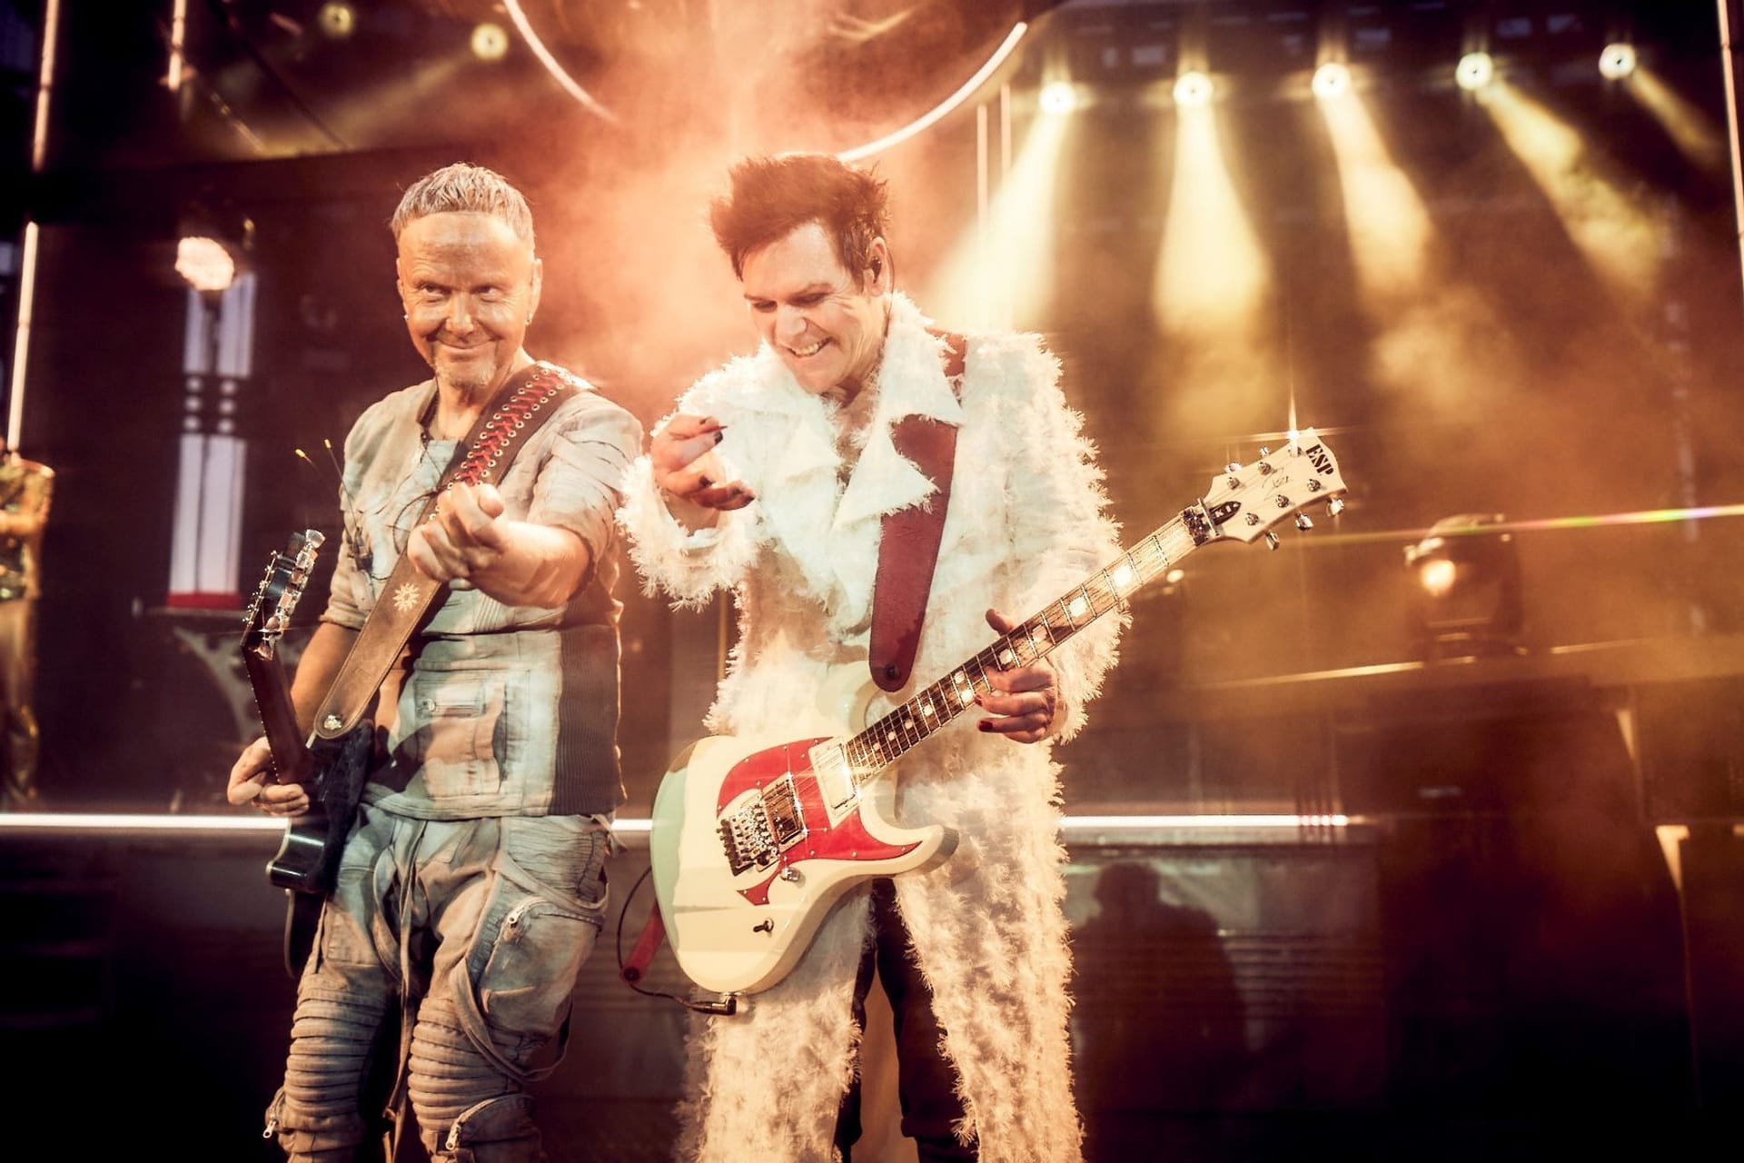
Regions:
[[321, 903], [333, 891], [338, 858], [356, 823], [373, 755], [375, 724], [370, 720], [310, 748], [310, 807], [290, 821], [279, 853], [267, 861], [267, 879], [291, 898], [284, 922], [284, 968], [291, 976], [302, 973], [314, 949]]

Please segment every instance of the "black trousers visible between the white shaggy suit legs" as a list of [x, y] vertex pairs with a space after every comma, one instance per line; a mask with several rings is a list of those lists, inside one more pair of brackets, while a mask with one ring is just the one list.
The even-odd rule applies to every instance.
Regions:
[[[973, 1163], [980, 1158], [977, 1144], [964, 1147], [950, 1130], [963, 1118], [957, 1074], [938, 1048], [933, 996], [909, 952], [909, 928], [896, 912], [896, 886], [888, 879], [872, 882], [872, 929], [874, 938], [860, 957], [860, 976], [855, 982], [855, 1022], [862, 1030], [867, 1025], [867, 994], [872, 992], [875, 966], [895, 1015], [902, 1133], [916, 1142], [921, 1163]], [[842, 1151], [842, 1163], [849, 1163], [849, 1151], [858, 1140], [860, 1079], [855, 1078], [835, 1121], [835, 1146]]]

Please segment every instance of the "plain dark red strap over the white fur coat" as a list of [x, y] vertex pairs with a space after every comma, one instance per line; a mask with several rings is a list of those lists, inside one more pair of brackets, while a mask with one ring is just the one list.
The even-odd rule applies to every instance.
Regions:
[[[945, 378], [963, 396], [964, 338], [945, 335]], [[937, 488], [924, 502], [884, 514], [877, 547], [877, 579], [872, 584], [872, 643], [867, 664], [872, 682], [900, 690], [909, 682], [914, 654], [921, 645], [926, 598], [933, 589], [938, 542], [950, 506], [950, 471], [957, 452], [957, 429], [928, 417], [903, 417], [891, 431], [896, 452], [912, 460]]]

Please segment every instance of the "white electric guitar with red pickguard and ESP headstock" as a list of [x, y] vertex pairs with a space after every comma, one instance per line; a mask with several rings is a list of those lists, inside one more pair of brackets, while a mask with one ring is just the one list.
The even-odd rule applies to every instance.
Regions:
[[1343, 493], [1338, 460], [1308, 429], [1277, 453], [1261, 448], [1250, 466], [1230, 464], [1203, 499], [875, 722], [867, 722], [877, 690], [865, 666], [844, 666], [820, 692], [830, 722], [821, 734], [712, 736], [685, 748], [661, 779], [649, 837], [654, 896], [678, 968], [720, 994], [780, 982], [849, 888], [928, 868], [956, 847], [940, 825], [891, 821], [895, 781], [886, 772], [991, 690], [991, 671], [1046, 657], [1200, 546], [1264, 537], [1277, 547], [1273, 525], [1296, 514], [1298, 528], [1311, 528], [1301, 509], [1329, 502], [1336, 516]]

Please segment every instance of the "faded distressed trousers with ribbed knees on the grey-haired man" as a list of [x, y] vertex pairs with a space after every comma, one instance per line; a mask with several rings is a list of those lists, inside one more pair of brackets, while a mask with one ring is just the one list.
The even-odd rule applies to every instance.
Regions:
[[359, 809], [296, 990], [267, 1116], [296, 1163], [358, 1158], [405, 1114], [434, 1163], [542, 1160], [527, 1085], [562, 1060], [605, 914], [610, 821]]

